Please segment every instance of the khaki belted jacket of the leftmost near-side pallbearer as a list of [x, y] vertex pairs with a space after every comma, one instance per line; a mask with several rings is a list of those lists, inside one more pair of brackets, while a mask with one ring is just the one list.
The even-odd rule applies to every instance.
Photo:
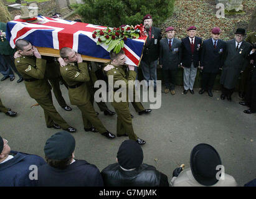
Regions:
[[50, 84], [44, 79], [46, 60], [34, 56], [16, 58], [15, 65], [24, 79], [36, 78], [36, 81], [25, 81], [27, 92], [34, 99], [45, 98], [50, 92]]

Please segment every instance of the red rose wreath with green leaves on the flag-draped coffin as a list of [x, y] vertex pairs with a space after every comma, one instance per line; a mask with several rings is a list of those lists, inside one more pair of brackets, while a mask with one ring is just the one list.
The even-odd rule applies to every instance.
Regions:
[[110, 28], [105, 30], [94, 30], [92, 37], [96, 39], [98, 37], [97, 45], [105, 44], [108, 46], [108, 52], [113, 50], [115, 53], [119, 53], [123, 49], [126, 39], [138, 39], [140, 36], [145, 36], [144, 26], [142, 24], [136, 25], [121, 25], [120, 27]]

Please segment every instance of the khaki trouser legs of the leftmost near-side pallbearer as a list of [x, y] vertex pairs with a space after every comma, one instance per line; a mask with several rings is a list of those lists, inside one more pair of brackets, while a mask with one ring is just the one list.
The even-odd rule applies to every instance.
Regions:
[[36, 99], [37, 103], [44, 109], [45, 123], [47, 127], [51, 127], [54, 123], [59, 124], [62, 129], [69, 128], [69, 124], [60, 116], [52, 103], [52, 93], [49, 92], [44, 98]]

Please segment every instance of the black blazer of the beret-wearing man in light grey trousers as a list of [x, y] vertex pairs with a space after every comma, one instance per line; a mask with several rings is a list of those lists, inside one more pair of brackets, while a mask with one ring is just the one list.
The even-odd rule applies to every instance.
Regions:
[[194, 53], [192, 54], [189, 37], [181, 39], [181, 62], [183, 63], [183, 67], [190, 68], [192, 62], [194, 63], [195, 68], [199, 66], [202, 39], [200, 37], [195, 37], [194, 44]]

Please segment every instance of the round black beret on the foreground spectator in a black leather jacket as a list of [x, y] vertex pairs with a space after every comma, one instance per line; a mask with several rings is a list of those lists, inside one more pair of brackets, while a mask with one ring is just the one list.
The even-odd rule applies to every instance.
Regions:
[[143, 151], [140, 144], [128, 139], [122, 142], [116, 157], [121, 167], [124, 169], [134, 169], [140, 167], [142, 164]]

